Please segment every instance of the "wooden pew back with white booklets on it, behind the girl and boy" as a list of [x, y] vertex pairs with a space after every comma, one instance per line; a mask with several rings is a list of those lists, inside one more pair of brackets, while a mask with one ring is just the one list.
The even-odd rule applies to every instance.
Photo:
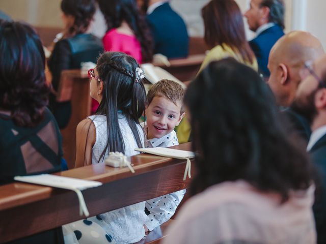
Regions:
[[[173, 148], [190, 150], [191, 143]], [[186, 189], [185, 160], [141, 154], [131, 157], [135, 173], [103, 163], [57, 173], [98, 180], [102, 186], [83, 191], [90, 216]], [[195, 175], [192, 160], [192, 175]], [[0, 243], [83, 219], [77, 196], [68, 190], [15, 182], [0, 187]], [[85, 218], [85, 217], [84, 217]], [[23, 228], [20, 228], [23, 227]]]

